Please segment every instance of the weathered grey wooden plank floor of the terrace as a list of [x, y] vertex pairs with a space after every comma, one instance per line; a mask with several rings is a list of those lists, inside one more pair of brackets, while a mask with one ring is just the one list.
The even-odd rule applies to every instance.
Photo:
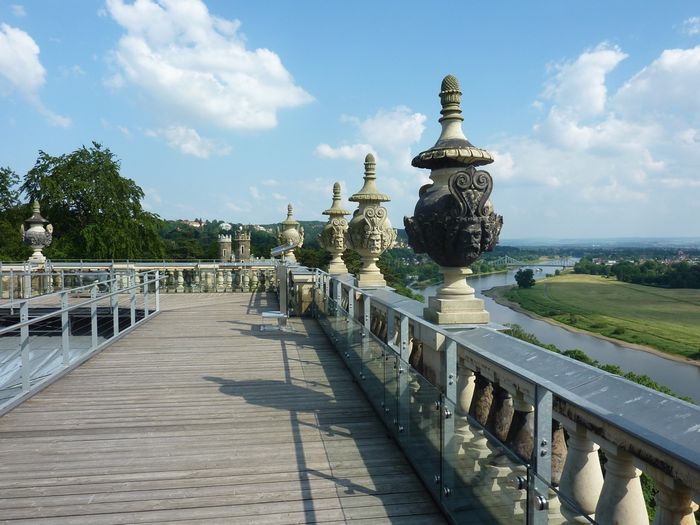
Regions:
[[162, 296], [0, 418], [0, 522], [443, 523], [315, 321], [260, 332], [274, 301]]

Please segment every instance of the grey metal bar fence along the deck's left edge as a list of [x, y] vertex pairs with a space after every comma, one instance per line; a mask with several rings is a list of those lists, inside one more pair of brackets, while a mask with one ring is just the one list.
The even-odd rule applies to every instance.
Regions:
[[0, 304], [0, 415], [160, 311], [158, 271]]

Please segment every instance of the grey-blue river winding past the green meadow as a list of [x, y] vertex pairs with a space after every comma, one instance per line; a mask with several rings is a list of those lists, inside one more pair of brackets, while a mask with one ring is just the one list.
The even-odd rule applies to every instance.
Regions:
[[[557, 270], [552, 267], [543, 267], [543, 271], [537, 271], [537, 266], [531, 268], [534, 270], [535, 279], [541, 279], [547, 273], [554, 273]], [[578, 348], [601, 363], [618, 365], [625, 371], [637, 374], [646, 374], [674, 392], [700, 401], [700, 367], [664, 359], [649, 352], [627, 348], [591, 335], [570, 332], [502, 306], [481, 293], [482, 290], [488, 290], [494, 286], [515, 284], [515, 272], [516, 270], [511, 270], [469, 279], [469, 284], [474, 288], [477, 297], [484, 300], [486, 310], [491, 314], [491, 321], [499, 324], [519, 324], [525, 331], [535, 334], [543, 343], [554, 344], [562, 350]], [[438, 286], [429, 286], [424, 290], [415, 291], [422, 294], [427, 303], [428, 297], [435, 295]]]

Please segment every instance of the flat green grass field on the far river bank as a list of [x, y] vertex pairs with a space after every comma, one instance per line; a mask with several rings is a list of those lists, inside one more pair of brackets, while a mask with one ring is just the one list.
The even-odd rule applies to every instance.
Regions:
[[700, 290], [628, 284], [594, 275], [551, 277], [504, 295], [561, 323], [700, 360]]

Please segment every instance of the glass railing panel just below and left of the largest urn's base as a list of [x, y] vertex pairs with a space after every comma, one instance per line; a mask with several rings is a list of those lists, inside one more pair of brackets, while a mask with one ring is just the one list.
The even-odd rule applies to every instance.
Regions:
[[439, 498], [441, 393], [405, 361], [399, 358], [397, 365], [401, 371], [399, 376], [406, 377], [407, 389], [398, 402], [399, 442], [425, 486]]

